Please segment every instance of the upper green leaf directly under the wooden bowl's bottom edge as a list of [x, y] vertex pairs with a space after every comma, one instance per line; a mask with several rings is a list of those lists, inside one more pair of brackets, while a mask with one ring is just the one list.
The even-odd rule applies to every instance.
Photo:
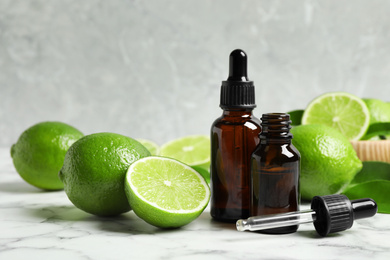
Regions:
[[373, 180], [390, 181], [390, 163], [363, 162], [362, 170], [356, 174], [350, 186]]

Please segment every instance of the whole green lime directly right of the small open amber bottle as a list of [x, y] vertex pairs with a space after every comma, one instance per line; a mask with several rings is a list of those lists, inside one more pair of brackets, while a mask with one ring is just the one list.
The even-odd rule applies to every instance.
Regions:
[[300, 190], [303, 199], [341, 192], [362, 169], [348, 139], [325, 125], [291, 129], [292, 143], [301, 154]]

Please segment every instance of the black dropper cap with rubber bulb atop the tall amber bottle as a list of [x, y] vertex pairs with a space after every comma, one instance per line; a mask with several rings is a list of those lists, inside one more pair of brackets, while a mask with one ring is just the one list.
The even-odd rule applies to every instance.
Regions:
[[255, 86], [247, 75], [248, 58], [243, 50], [230, 53], [229, 77], [222, 81], [220, 107], [255, 108]]

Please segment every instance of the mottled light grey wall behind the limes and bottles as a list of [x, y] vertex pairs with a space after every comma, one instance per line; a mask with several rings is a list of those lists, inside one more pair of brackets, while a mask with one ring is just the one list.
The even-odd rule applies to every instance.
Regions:
[[242, 48], [256, 116], [390, 101], [390, 1], [0, 0], [0, 146], [41, 121], [163, 144], [209, 134]]

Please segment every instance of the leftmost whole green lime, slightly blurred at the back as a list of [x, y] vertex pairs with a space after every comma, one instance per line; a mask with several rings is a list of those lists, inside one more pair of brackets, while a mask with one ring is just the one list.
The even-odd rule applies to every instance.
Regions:
[[42, 122], [24, 131], [11, 147], [11, 157], [19, 175], [44, 190], [60, 190], [64, 185], [58, 171], [66, 151], [83, 134], [61, 122]]

